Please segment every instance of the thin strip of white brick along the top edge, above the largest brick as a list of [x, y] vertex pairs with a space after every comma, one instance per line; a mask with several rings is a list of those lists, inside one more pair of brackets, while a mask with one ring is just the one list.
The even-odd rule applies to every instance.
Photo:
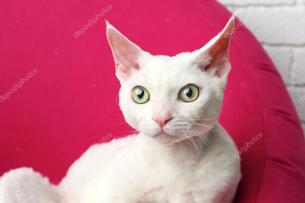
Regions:
[[245, 5], [293, 5], [293, 0], [218, 0], [224, 5], [245, 6]]

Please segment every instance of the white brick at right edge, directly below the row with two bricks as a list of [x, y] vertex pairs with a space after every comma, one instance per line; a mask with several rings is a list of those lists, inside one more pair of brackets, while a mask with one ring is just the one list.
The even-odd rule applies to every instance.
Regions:
[[291, 99], [299, 114], [300, 120], [305, 122], [305, 88], [303, 87], [289, 87]]

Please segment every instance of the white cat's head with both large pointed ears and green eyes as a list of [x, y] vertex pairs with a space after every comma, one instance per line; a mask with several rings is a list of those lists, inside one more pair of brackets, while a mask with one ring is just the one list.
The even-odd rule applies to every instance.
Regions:
[[127, 123], [164, 144], [210, 131], [231, 69], [234, 17], [202, 48], [173, 57], [149, 54], [107, 21], [106, 25]]

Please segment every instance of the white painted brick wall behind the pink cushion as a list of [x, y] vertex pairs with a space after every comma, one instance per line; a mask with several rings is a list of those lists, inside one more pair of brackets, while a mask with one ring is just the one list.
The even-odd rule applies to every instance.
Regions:
[[[305, 132], [305, 0], [218, 0], [247, 20], [281, 73]], [[253, 12], [253, 9], [255, 12]]]

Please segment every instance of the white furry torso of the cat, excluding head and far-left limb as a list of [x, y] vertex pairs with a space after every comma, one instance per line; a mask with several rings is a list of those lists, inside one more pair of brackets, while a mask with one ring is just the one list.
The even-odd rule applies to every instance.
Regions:
[[206, 135], [213, 143], [206, 141], [209, 146], [194, 138], [203, 152], [199, 157], [189, 139], [165, 146], [139, 134], [97, 145], [60, 185], [74, 188], [69, 193], [84, 203], [231, 202], [240, 179], [239, 160], [229, 166], [224, 160], [237, 150], [226, 131], [219, 124], [215, 128], [220, 134]]

